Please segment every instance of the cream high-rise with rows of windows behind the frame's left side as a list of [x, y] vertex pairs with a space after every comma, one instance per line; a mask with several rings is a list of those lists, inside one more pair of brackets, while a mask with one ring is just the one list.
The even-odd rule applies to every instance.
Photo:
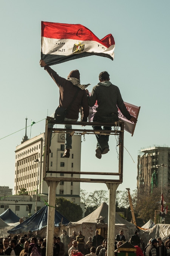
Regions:
[[[15, 150], [15, 194], [25, 188], [29, 195], [48, 194], [48, 185], [43, 181], [43, 147], [45, 133], [23, 141]], [[63, 158], [65, 134], [54, 133], [49, 155], [49, 171], [74, 171], [75, 174], [48, 173], [48, 177], [80, 177], [81, 136], [73, 135], [70, 158]], [[37, 191], [37, 192], [36, 192]], [[80, 182], [61, 181], [56, 196], [62, 196], [80, 204]]]

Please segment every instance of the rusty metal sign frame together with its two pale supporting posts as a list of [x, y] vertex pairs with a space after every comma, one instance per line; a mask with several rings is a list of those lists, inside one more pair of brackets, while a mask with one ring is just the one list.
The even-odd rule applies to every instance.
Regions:
[[[48, 124], [55, 125], [54, 118], [46, 118], [45, 127], [45, 147], [44, 147], [44, 163], [43, 163], [43, 177], [48, 185], [48, 221], [47, 221], [47, 246], [46, 255], [53, 256], [53, 236], [54, 236], [54, 213], [55, 213], [55, 199], [56, 199], [56, 188], [60, 181], [65, 182], [93, 182], [93, 183], [105, 183], [109, 190], [109, 210], [108, 210], [108, 256], [113, 255], [114, 251], [114, 238], [115, 238], [115, 213], [116, 213], [116, 189], [123, 182], [123, 153], [124, 153], [124, 122], [119, 121], [115, 123], [99, 123], [93, 122], [95, 126], [113, 126], [114, 130], [92, 130], [92, 129], [65, 129], [65, 128], [51, 128]], [[79, 125], [79, 126], [91, 126], [90, 122], [63, 122], [62, 125]], [[119, 144], [119, 168], [118, 172], [76, 172], [80, 175], [96, 175], [95, 179], [92, 178], [66, 178], [62, 177], [47, 177], [48, 173], [69, 173], [75, 174], [74, 171], [49, 171], [49, 145], [50, 145], [50, 133], [69, 133], [70, 136], [73, 134], [98, 134], [98, 135], [114, 135], [118, 136]], [[98, 179], [97, 175], [116, 176], [117, 179]]]

